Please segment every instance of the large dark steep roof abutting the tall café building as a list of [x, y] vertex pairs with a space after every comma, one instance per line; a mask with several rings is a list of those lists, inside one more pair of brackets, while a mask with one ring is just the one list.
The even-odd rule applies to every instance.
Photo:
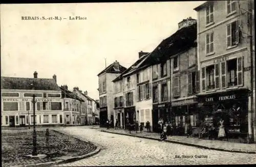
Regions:
[[151, 53], [140, 67], [151, 66], [166, 61], [172, 55], [196, 47], [197, 23], [183, 27], [172, 36], [164, 39]]

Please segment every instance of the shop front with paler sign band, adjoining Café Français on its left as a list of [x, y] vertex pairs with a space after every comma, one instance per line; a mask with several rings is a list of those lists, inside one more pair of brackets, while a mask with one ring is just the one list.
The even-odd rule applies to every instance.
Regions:
[[192, 127], [199, 126], [197, 97], [188, 97], [182, 100], [172, 101], [172, 124], [179, 133], [184, 131], [185, 123]]

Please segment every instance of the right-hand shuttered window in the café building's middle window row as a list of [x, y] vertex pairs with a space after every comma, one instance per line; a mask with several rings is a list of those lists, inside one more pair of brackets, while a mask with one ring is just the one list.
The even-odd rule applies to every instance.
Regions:
[[227, 47], [239, 43], [239, 21], [233, 21], [227, 25]]

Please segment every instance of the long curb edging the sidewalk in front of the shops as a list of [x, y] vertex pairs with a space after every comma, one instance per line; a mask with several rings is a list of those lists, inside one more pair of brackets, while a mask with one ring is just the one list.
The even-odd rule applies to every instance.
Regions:
[[[158, 138], [153, 138], [153, 137], [137, 136], [137, 135], [134, 135], [134, 134], [124, 134], [124, 133], [110, 132], [110, 131], [105, 131], [105, 130], [100, 130], [100, 131], [102, 131], [102, 132], [107, 132], [107, 133], [121, 134], [121, 135], [127, 135], [127, 136], [133, 136], [133, 137], [140, 137], [140, 138], [146, 138], [146, 139], [150, 139], [150, 140], [159, 141]], [[197, 147], [197, 148], [202, 148], [202, 149], [209, 149], [209, 150], [226, 151], [226, 152], [236, 152], [236, 153], [247, 153], [247, 154], [256, 154], [256, 151], [233, 150], [233, 149], [232, 149], [232, 150], [226, 150], [226, 149], [220, 149], [220, 148], [214, 148], [214, 147], [207, 147], [207, 146], [201, 146], [201, 145], [190, 144], [190, 143], [184, 143], [184, 142], [178, 142], [178, 141], [171, 141], [171, 140], [165, 140], [164, 142], [175, 143], [175, 144], [180, 144], [180, 145], [185, 145], [185, 146], [192, 146], [192, 147]]]

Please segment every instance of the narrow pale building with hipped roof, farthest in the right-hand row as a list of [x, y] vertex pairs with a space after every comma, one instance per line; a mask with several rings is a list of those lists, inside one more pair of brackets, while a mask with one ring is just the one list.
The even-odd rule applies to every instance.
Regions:
[[114, 126], [114, 82], [112, 81], [125, 70], [125, 67], [115, 61], [98, 74], [100, 101], [99, 122], [101, 126], [105, 125], [107, 119], [112, 121], [112, 126]]

